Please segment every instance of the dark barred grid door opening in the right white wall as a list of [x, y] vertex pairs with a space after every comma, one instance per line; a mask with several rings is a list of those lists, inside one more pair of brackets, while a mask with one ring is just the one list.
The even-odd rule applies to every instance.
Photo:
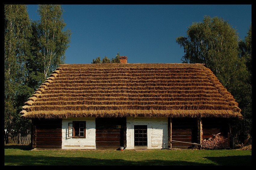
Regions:
[[147, 125], [134, 125], [134, 146], [148, 146]]

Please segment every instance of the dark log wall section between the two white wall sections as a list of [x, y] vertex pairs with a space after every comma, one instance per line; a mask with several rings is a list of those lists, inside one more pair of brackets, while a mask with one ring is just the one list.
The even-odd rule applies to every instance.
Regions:
[[96, 149], [126, 147], [126, 118], [96, 118], [95, 128]]

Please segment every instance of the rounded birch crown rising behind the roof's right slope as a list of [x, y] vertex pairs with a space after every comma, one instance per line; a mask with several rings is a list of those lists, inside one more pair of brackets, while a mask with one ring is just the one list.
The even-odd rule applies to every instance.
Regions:
[[184, 48], [183, 63], [204, 63], [227, 86], [239, 63], [236, 30], [221, 18], [205, 16], [189, 26], [187, 35], [176, 38]]

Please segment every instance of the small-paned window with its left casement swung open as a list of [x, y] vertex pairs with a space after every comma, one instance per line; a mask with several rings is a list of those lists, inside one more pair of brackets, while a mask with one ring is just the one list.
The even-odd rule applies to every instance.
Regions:
[[68, 137], [85, 138], [85, 130], [85, 121], [73, 121], [72, 123], [68, 123]]

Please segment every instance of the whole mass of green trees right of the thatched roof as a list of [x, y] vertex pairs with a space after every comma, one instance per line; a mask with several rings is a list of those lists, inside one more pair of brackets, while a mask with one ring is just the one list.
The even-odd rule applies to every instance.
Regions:
[[204, 16], [188, 27], [187, 37], [177, 37], [183, 46], [183, 63], [203, 63], [239, 103], [244, 120], [237, 128], [251, 131], [251, 26], [245, 41], [222, 18]]

